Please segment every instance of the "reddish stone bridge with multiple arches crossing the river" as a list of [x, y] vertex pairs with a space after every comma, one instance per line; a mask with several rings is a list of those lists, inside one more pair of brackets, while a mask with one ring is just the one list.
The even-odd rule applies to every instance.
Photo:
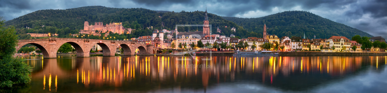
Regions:
[[16, 46], [16, 50], [19, 50], [23, 45], [31, 44], [37, 46], [43, 53], [44, 58], [57, 58], [57, 51], [64, 43], [69, 43], [74, 46], [77, 51], [77, 57], [89, 57], [92, 46], [98, 44], [103, 50], [103, 56], [114, 56], [116, 48], [121, 46], [124, 55], [134, 55], [135, 50], [138, 48], [140, 54], [152, 54], [155, 53], [158, 48], [154, 48], [153, 45], [145, 45], [129, 41], [117, 41], [117, 40], [94, 40], [86, 38], [45, 38], [45, 39], [30, 39], [19, 40]]

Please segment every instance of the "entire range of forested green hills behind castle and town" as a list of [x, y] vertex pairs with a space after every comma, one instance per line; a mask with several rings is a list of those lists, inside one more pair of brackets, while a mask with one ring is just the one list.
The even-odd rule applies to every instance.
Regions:
[[[106, 23], [123, 23], [123, 27], [136, 29], [132, 34], [114, 35], [117, 39], [136, 38], [140, 36], [152, 35], [155, 29], [174, 30], [177, 24], [203, 24], [204, 12], [168, 12], [153, 11], [144, 8], [109, 8], [103, 6], [89, 6], [71, 8], [66, 10], [38, 10], [21, 17], [9, 20], [6, 25], [13, 25], [21, 34], [21, 39], [31, 39], [24, 33], [58, 33], [61, 38], [71, 38], [70, 33], [78, 33], [83, 29], [83, 23], [88, 21]], [[212, 25], [212, 33], [229, 36], [234, 34], [241, 38], [262, 37], [263, 25], [266, 23], [270, 34], [282, 36], [303, 36], [311, 38], [329, 38], [332, 35], [352, 37], [361, 35], [371, 37], [368, 33], [355, 28], [348, 27], [341, 23], [336, 23], [318, 15], [291, 11], [269, 15], [261, 18], [236, 18], [221, 17], [208, 13], [209, 22]], [[42, 27], [45, 25], [45, 27]], [[227, 26], [227, 27], [226, 27]], [[26, 29], [30, 27], [31, 29]], [[148, 30], [147, 27], [153, 27]], [[216, 28], [222, 30], [217, 33]], [[236, 32], [231, 28], [235, 27]], [[179, 27], [179, 32], [202, 31], [202, 27]], [[103, 37], [95, 37], [101, 39]]]

